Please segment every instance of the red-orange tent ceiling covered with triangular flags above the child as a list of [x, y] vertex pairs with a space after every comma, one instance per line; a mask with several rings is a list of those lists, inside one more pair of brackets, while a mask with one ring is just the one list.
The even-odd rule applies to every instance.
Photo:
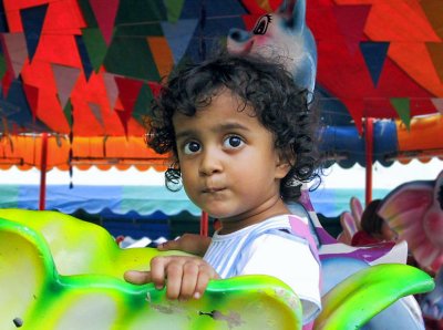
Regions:
[[[142, 135], [158, 82], [281, 0], [3, 0], [0, 132]], [[443, 113], [440, 0], [309, 0], [320, 109], [364, 117]], [[330, 123], [333, 125], [333, 123]]]

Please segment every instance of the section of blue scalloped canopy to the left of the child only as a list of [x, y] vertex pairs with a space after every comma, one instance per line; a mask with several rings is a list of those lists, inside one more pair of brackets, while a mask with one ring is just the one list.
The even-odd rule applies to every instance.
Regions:
[[[0, 208], [39, 208], [38, 185], [0, 186]], [[184, 190], [172, 193], [163, 186], [83, 186], [49, 185], [47, 186], [45, 208], [73, 214], [83, 209], [89, 214], [112, 213], [124, 218], [131, 213], [140, 216], [161, 212], [166, 216], [187, 210], [194, 216], [200, 209], [186, 196]]]

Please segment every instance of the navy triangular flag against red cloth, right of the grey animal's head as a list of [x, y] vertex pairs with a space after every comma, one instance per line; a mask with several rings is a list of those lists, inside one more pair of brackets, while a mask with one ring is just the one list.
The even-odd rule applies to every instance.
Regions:
[[379, 83], [380, 73], [383, 70], [384, 60], [387, 59], [389, 42], [361, 42], [360, 50], [363, 54], [364, 62], [369, 73], [371, 74], [374, 86]]

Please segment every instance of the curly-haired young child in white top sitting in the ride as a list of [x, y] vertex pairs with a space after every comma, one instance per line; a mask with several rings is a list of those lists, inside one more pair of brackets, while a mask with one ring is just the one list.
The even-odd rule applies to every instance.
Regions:
[[156, 100], [147, 143], [172, 152], [167, 186], [183, 182], [222, 228], [204, 258], [156, 257], [151, 271], [127, 271], [126, 280], [166, 283], [169, 299], [198, 299], [210, 279], [269, 275], [293, 289], [303, 322], [312, 321], [317, 250], [308, 224], [285, 202], [317, 176], [313, 122], [306, 91], [279, 63], [223, 54], [178, 71]]

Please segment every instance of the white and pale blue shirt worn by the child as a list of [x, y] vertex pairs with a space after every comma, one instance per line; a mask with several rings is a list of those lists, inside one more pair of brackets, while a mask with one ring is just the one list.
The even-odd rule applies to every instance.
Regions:
[[300, 298], [306, 324], [321, 309], [320, 266], [308, 240], [293, 233], [290, 218], [306, 223], [284, 215], [231, 234], [215, 233], [204, 259], [220, 278], [268, 275], [282, 280]]

